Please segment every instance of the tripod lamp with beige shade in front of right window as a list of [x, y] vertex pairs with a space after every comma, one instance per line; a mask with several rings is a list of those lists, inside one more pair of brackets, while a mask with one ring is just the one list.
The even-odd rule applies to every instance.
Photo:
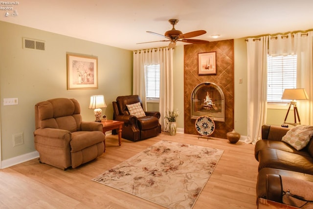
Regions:
[[[297, 108], [297, 102], [295, 100], [309, 99], [309, 96], [308, 96], [307, 92], [305, 91], [305, 89], [285, 89], [284, 93], [283, 93], [283, 96], [282, 96], [282, 99], [291, 99], [292, 100], [290, 102], [290, 104], [289, 104], [289, 108], [288, 108], [288, 111], [287, 111], [287, 114], [286, 114], [286, 117], [285, 117], [285, 120], [284, 120], [284, 124], [282, 124], [282, 126], [283, 127], [288, 127], [287, 124], [290, 124], [290, 125], [293, 125], [293, 126], [301, 124], [300, 117], [299, 117], [299, 112], [298, 112], [298, 108]], [[287, 116], [289, 114], [291, 105], [293, 106], [294, 123], [286, 123]], [[297, 123], [296, 116], [298, 118], [299, 123]]]

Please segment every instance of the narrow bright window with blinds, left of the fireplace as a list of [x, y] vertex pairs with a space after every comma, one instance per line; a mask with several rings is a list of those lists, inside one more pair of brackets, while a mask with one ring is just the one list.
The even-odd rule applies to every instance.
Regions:
[[160, 65], [146, 65], [147, 100], [158, 100], [160, 97]]

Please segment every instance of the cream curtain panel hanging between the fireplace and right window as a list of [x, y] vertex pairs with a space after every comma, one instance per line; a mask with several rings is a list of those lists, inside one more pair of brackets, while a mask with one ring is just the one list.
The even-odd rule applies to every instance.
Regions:
[[247, 39], [247, 138], [255, 144], [261, 137], [267, 113], [268, 36]]

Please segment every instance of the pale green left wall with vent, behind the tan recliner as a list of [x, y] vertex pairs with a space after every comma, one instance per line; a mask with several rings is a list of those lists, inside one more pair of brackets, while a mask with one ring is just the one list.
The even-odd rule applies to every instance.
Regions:
[[[2, 161], [35, 151], [34, 105], [55, 98], [76, 98], [84, 120], [94, 120], [91, 95], [104, 94], [105, 114], [112, 118], [112, 101], [132, 93], [133, 52], [0, 21], [0, 116]], [[22, 48], [22, 37], [45, 41], [45, 51]], [[98, 57], [98, 89], [67, 90], [66, 53]], [[19, 99], [3, 106], [3, 98]], [[24, 144], [13, 147], [13, 135]]]

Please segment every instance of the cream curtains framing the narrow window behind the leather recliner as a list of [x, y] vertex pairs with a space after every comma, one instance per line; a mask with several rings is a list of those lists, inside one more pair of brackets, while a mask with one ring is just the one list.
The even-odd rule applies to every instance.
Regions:
[[166, 131], [164, 116], [166, 110], [173, 110], [173, 48], [153, 48], [134, 51], [133, 93], [142, 100], [144, 110], [147, 110], [145, 65], [160, 64], [160, 99], [159, 112], [162, 131]]

